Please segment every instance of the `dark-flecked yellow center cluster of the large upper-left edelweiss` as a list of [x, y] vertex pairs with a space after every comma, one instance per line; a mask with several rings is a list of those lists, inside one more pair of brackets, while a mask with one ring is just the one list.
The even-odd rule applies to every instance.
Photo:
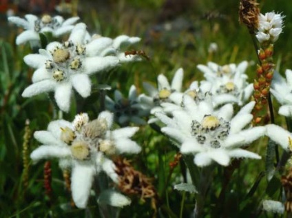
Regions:
[[65, 41], [51, 50], [52, 58], [45, 61], [45, 69], [52, 73], [55, 81], [63, 81], [71, 75], [82, 73], [85, 48], [83, 44]]

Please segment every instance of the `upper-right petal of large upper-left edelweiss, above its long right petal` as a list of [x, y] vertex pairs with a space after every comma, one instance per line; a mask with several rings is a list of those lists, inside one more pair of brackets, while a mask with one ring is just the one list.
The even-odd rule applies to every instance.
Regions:
[[93, 57], [95, 55], [100, 56], [101, 52], [103, 52], [103, 50], [105, 50], [105, 48], [109, 47], [111, 44], [112, 39], [107, 37], [94, 39], [86, 45], [86, 54], [89, 57]]

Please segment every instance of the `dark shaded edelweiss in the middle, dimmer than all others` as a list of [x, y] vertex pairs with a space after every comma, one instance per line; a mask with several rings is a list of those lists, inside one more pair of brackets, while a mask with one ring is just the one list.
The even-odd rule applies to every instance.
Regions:
[[140, 103], [134, 85], [129, 89], [129, 97], [127, 99], [118, 90], [114, 92], [114, 101], [106, 96], [105, 108], [114, 112], [115, 118], [122, 126], [127, 126], [130, 121], [138, 125], [145, 125], [147, 122], [140, 117], [149, 115], [150, 110], [150, 108], [145, 108]]

